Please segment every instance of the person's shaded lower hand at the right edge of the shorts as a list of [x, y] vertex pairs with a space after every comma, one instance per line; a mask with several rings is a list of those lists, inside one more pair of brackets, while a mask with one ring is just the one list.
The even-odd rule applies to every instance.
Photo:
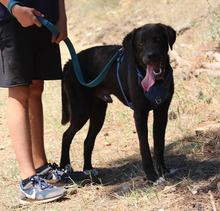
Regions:
[[67, 38], [67, 23], [66, 23], [66, 17], [60, 18], [58, 22], [56, 23], [57, 29], [60, 31], [59, 35], [55, 37], [52, 35], [51, 42], [59, 44], [60, 41]]

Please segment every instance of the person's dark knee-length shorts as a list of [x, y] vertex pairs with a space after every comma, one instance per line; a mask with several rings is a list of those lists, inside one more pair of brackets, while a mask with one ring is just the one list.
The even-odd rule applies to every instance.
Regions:
[[61, 79], [59, 45], [42, 26], [22, 27], [16, 20], [0, 22], [0, 87]]

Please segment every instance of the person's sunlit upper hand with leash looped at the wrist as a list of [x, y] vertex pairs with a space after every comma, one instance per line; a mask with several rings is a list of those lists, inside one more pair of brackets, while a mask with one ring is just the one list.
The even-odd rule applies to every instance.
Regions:
[[18, 4], [15, 4], [12, 7], [11, 11], [13, 16], [23, 27], [32, 26], [34, 24], [38, 27], [42, 26], [42, 24], [38, 21], [36, 16], [44, 17], [44, 15], [35, 10], [34, 8], [23, 7]]

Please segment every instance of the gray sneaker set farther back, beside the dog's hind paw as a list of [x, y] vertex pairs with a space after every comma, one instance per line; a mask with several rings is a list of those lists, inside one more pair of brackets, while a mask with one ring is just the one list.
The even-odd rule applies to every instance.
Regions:
[[69, 181], [69, 175], [63, 171], [60, 171], [55, 163], [53, 165], [49, 163], [47, 167], [40, 173], [37, 173], [37, 175], [50, 184], [60, 182], [66, 183]]

